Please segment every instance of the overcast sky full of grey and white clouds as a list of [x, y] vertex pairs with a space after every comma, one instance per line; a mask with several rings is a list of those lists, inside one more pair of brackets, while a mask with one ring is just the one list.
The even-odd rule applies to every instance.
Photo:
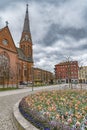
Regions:
[[87, 0], [3, 0], [0, 28], [9, 22], [16, 46], [23, 29], [26, 3], [36, 67], [54, 71], [69, 59], [87, 65]]

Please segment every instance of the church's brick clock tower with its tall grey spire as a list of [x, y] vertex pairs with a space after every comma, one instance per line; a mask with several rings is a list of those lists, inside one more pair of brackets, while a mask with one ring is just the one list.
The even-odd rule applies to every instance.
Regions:
[[26, 14], [23, 26], [23, 32], [20, 40], [20, 48], [28, 60], [33, 62], [33, 50], [32, 50], [32, 39], [30, 33], [30, 22], [28, 14], [28, 4], [26, 5]]

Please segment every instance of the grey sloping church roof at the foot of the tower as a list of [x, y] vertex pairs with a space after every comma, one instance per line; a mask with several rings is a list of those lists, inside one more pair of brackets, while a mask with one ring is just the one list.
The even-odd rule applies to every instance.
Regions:
[[27, 62], [33, 62], [31, 57], [26, 57], [21, 48], [17, 48], [18, 58]]

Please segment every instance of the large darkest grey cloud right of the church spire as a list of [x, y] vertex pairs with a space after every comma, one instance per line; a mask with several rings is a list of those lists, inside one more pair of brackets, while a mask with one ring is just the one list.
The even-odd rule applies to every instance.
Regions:
[[51, 24], [47, 34], [43, 39], [43, 44], [51, 46], [56, 41], [64, 39], [65, 36], [71, 37], [75, 40], [80, 40], [82, 38], [87, 37], [87, 29], [84, 28], [76, 29], [70, 27], [63, 28], [58, 24]]

